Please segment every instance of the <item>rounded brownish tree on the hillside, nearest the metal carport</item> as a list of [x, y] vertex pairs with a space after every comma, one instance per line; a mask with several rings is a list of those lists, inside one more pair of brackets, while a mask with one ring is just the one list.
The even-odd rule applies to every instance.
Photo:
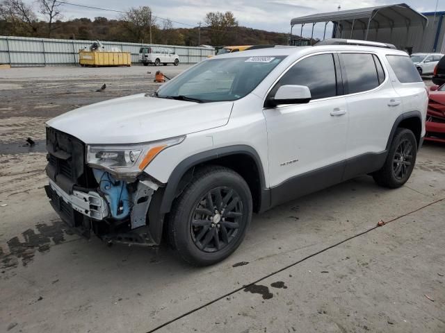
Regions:
[[208, 12], [204, 22], [210, 28], [211, 44], [215, 46], [227, 43], [230, 29], [238, 27], [233, 12]]

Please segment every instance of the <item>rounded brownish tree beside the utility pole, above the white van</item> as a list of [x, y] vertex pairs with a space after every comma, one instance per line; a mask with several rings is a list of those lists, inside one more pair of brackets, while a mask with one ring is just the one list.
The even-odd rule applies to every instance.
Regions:
[[148, 6], [132, 7], [122, 14], [120, 19], [124, 21], [124, 28], [131, 34], [132, 40], [152, 42], [152, 27], [156, 25], [156, 20], [152, 17], [152, 10]]

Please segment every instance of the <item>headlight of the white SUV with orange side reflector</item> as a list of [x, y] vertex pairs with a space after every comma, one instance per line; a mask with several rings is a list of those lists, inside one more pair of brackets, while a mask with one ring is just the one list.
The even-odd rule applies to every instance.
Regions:
[[185, 136], [145, 144], [92, 144], [87, 146], [86, 162], [117, 176], [136, 177], [163, 149], [184, 139]]

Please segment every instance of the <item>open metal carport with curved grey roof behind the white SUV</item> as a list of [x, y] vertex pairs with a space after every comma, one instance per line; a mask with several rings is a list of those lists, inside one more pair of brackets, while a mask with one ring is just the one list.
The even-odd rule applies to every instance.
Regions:
[[[373, 40], [378, 40], [378, 32], [381, 29], [389, 29], [389, 40], [392, 39], [394, 28], [406, 29], [406, 38], [413, 26], [421, 27], [423, 34], [428, 19], [421, 13], [410, 8], [406, 3], [396, 5], [376, 6], [352, 10], [341, 10], [337, 12], [324, 12], [291, 19], [291, 35], [293, 27], [301, 25], [300, 37], [305, 24], [312, 24], [311, 40], [314, 37], [314, 26], [324, 23], [323, 40], [326, 36], [326, 26], [329, 22], [334, 24], [332, 37], [353, 38], [368, 40], [370, 31], [375, 31]], [[390, 42], [389, 40], [385, 42]], [[380, 40], [378, 40], [380, 41]]]

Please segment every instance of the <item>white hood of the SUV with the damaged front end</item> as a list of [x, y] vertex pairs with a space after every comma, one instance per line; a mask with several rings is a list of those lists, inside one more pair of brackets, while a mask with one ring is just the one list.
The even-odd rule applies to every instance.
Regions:
[[72, 110], [47, 125], [86, 144], [131, 144], [224, 126], [233, 102], [195, 103], [137, 94]]

